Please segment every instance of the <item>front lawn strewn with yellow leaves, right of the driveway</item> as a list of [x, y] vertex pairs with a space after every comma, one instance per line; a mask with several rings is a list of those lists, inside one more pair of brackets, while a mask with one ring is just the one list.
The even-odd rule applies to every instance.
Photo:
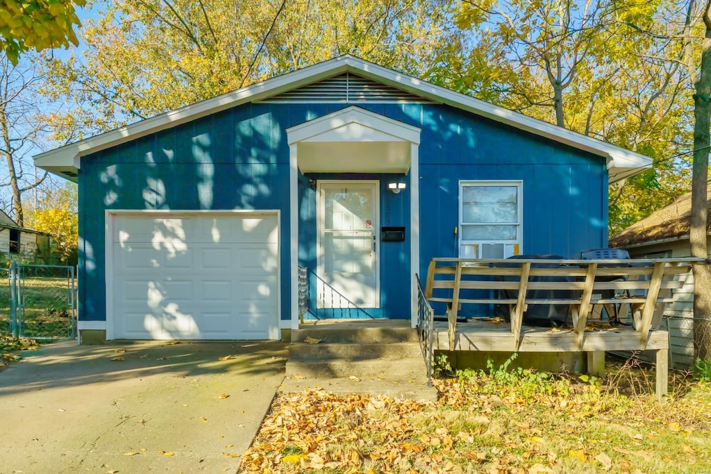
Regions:
[[711, 472], [711, 385], [676, 377], [676, 393], [660, 403], [634, 394], [651, 379], [634, 371], [605, 380], [460, 372], [435, 381], [437, 403], [323, 390], [279, 394], [241, 470]]

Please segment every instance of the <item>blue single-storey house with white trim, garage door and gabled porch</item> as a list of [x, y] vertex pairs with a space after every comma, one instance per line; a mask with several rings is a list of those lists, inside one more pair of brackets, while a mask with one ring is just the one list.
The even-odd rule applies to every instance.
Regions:
[[35, 163], [79, 185], [80, 333], [200, 340], [298, 328], [299, 266], [307, 318], [415, 325], [432, 257], [604, 247], [651, 159], [345, 55]]

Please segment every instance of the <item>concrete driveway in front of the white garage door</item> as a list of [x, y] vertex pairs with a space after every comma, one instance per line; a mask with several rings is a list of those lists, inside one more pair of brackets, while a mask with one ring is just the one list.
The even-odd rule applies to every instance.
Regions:
[[23, 355], [0, 372], [0, 473], [234, 473], [287, 345], [71, 341]]

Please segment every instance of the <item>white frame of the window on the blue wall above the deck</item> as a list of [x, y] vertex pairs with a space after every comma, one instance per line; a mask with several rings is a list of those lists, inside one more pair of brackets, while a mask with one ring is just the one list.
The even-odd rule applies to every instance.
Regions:
[[[463, 238], [464, 232], [463, 227], [467, 224], [473, 224], [474, 222], [464, 222], [464, 188], [474, 187], [474, 186], [508, 186], [516, 188], [516, 239], [515, 240], [465, 240]], [[486, 224], [491, 225], [492, 222], [486, 222]], [[496, 223], [493, 223], [496, 225]], [[511, 222], [503, 222], [501, 225], [512, 225]], [[462, 255], [462, 249], [464, 245], [474, 245], [474, 257], [481, 259], [483, 246], [491, 244], [503, 244], [504, 245], [504, 258], [513, 257], [513, 255], [520, 254], [521, 244], [523, 243], [523, 181], [520, 180], [510, 180], [510, 181], [476, 181], [476, 180], [460, 180], [459, 181], [459, 227], [457, 227], [458, 238], [457, 238], [457, 254], [459, 257], [469, 257]]]

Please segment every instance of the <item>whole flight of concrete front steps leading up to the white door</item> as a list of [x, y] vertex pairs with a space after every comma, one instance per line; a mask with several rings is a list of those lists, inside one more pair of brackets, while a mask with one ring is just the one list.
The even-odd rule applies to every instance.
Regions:
[[335, 394], [437, 400], [437, 390], [427, 387], [417, 330], [402, 320], [301, 324], [299, 330], [292, 331], [287, 377], [279, 390], [314, 388]]

